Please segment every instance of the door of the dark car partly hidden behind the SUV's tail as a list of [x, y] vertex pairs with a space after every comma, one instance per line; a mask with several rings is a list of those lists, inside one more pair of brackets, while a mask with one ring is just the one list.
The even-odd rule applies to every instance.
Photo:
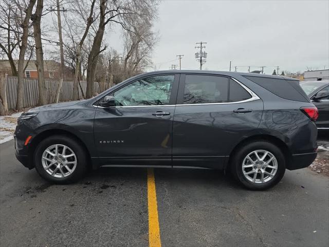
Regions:
[[[328, 95], [329, 86], [324, 87], [314, 96], [320, 96], [320, 94]], [[321, 98], [319, 100], [312, 100], [312, 103], [318, 108], [319, 117], [316, 121], [318, 129], [329, 129], [329, 96]]]

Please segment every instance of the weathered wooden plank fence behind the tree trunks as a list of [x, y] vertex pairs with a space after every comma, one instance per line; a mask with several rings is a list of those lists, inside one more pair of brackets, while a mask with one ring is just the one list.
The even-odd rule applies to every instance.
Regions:
[[[52, 103], [55, 98], [58, 81], [57, 80], [45, 80], [46, 89], [47, 89], [47, 97], [48, 102]], [[81, 88], [83, 94], [81, 92]], [[87, 82], [80, 81], [79, 87], [79, 99], [86, 95]], [[95, 92], [100, 93], [100, 86], [98, 82], [94, 83]], [[7, 102], [8, 109], [15, 109], [16, 99], [17, 99], [17, 77], [8, 76], [7, 77], [7, 85], [6, 85], [6, 93], [7, 93]], [[59, 101], [69, 101], [73, 98], [73, 81], [63, 81], [63, 85], [60, 92]], [[23, 107], [34, 107], [38, 104], [39, 100], [39, 86], [37, 79], [28, 79], [24, 78], [23, 80]]]

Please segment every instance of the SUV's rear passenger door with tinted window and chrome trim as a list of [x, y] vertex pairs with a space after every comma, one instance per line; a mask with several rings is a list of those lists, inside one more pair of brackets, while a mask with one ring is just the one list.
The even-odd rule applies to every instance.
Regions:
[[230, 77], [186, 74], [180, 78], [173, 166], [221, 168], [243, 135], [259, 126], [263, 102]]

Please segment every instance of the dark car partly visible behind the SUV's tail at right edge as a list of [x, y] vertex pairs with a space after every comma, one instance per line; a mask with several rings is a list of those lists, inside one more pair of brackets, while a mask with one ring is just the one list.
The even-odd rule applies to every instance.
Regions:
[[316, 126], [319, 130], [329, 131], [329, 81], [305, 81], [300, 85], [318, 108]]

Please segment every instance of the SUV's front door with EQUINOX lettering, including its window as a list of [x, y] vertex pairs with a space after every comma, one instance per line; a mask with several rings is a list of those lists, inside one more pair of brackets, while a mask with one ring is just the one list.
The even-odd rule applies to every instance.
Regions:
[[100, 165], [171, 166], [178, 80], [177, 74], [144, 77], [111, 92], [115, 106], [99, 101], [94, 138]]

